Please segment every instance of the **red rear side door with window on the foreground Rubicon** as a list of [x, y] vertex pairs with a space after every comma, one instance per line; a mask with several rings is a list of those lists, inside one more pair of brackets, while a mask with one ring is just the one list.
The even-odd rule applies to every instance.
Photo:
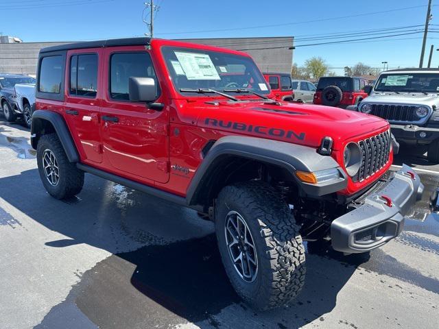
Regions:
[[102, 162], [99, 135], [102, 86], [98, 69], [101, 60], [101, 48], [67, 52], [64, 117], [85, 162]]

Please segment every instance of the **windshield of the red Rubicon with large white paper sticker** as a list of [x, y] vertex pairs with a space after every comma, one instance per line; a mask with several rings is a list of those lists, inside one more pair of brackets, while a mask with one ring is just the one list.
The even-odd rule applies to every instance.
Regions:
[[163, 57], [172, 82], [179, 91], [202, 88], [226, 90], [227, 93], [234, 93], [230, 89], [246, 89], [263, 95], [270, 93], [256, 64], [246, 56], [163, 47]]

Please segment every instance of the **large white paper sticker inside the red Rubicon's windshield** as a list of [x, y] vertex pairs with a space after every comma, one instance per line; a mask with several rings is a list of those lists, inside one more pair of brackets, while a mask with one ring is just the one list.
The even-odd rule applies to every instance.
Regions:
[[221, 80], [209, 55], [174, 51], [187, 80]]

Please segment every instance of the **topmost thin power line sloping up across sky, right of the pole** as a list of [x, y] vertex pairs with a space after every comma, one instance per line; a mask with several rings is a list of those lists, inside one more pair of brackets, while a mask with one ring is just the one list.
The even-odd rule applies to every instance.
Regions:
[[199, 31], [187, 31], [187, 32], [162, 32], [160, 35], [165, 34], [194, 34], [194, 33], [207, 33], [207, 32], [225, 32], [225, 31], [241, 31], [244, 29], [259, 29], [261, 27], [280, 27], [280, 26], [287, 26], [287, 25], [298, 25], [298, 24], [305, 24], [305, 23], [316, 23], [316, 22], [322, 22], [322, 21], [333, 21], [335, 19], [348, 19], [353, 17], [360, 17], [360, 16], [370, 16], [370, 15], [376, 15], [376, 14], [384, 14], [388, 12], [398, 12], [401, 10], [410, 10], [415, 8], [424, 8], [425, 5], [414, 5], [412, 7], [404, 7], [404, 8], [396, 8], [391, 10], [382, 10], [379, 12], [365, 12], [364, 14], [355, 14], [355, 15], [347, 15], [347, 16], [337, 16], [337, 17], [329, 17], [327, 19], [314, 19], [311, 21], [300, 21], [300, 22], [290, 22], [290, 23], [280, 23], [280, 24], [270, 24], [270, 25], [257, 25], [257, 26], [250, 26], [250, 27], [236, 27], [236, 28], [229, 28], [229, 29], [204, 29]]

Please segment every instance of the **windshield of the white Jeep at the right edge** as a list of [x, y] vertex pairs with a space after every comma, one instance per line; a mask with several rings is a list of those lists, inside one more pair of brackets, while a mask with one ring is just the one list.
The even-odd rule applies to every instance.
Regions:
[[439, 73], [382, 74], [375, 91], [439, 93]]

